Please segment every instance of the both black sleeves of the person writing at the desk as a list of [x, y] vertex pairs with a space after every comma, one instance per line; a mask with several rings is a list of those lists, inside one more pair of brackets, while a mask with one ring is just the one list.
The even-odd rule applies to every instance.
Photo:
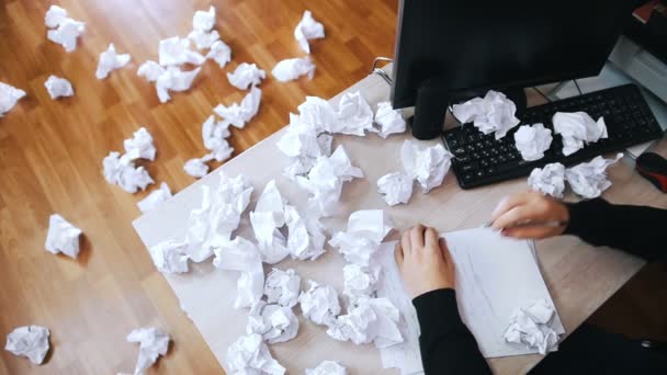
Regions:
[[[566, 235], [610, 246], [648, 261], [667, 255], [667, 211], [612, 205], [602, 198], [568, 204]], [[412, 300], [421, 328], [419, 345], [427, 375], [490, 374], [475, 338], [459, 316], [454, 289], [425, 293]]]

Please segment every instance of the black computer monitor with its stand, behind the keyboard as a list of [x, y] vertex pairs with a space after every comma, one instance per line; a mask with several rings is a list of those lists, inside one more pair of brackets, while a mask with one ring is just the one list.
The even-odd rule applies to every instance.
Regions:
[[412, 135], [442, 132], [449, 104], [596, 76], [632, 12], [632, 0], [402, 0], [392, 104], [415, 106]]

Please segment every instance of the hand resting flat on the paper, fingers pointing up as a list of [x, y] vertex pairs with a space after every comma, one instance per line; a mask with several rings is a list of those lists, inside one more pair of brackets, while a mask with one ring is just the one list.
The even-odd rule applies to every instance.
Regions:
[[404, 231], [395, 255], [411, 298], [455, 286], [452, 255], [436, 229], [417, 225]]

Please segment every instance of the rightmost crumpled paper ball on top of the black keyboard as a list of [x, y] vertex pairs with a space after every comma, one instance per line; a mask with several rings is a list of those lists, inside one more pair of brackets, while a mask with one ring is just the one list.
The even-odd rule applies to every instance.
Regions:
[[593, 121], [586, 112], [556, 112], [552, 122], [554, 133], [563, 137], [563, 155], [568, 156], [584, 148], [585, 144], [607, 138], [607, 124], [600, 117]]

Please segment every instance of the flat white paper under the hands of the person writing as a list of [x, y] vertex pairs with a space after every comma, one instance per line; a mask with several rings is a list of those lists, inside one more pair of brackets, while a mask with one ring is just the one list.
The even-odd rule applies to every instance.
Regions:
[[[456, 264], [459, 311], [485, 357], [536, 353], [522, 344], [507, 343], [504, 333], [518, 307], [539, 298], [553, 305], [538, 266], [532, 242], [501, 237], [490, 229], [467, 229], [442, 235]], [[406, 326], [405, 342], [381, 350], [385, 368], [398, 367], [403, 374], [422, 372], [417, 312], [406, 294], [394, 260], [396, 242], [385, 242], [377, 252], [383, 268], [378, 297], [388, 297], [400, 310]], [[520, 270], [520, 272], [517, 272]], [[489, 298], [489, 299], [486, 299]], [[565, 329], [557, 311], [554, 329]]]

